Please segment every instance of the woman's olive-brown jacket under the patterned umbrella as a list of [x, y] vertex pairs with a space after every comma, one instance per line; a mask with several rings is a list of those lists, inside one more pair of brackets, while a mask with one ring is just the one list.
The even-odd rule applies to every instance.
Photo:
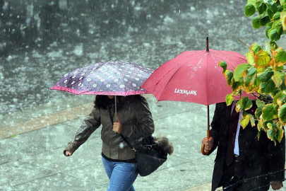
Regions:
[[[121, 109], [117, 110], [117, 116], [122, 125], [121, 134], [133, 146], [139, 146], [143, 137], [148, 137], [154, 132], [154, 122], [148, 103], [145, 98], [138, 96], [126, 96], [119, 104], [123, 103]], [[113, 111], [112, 115], [114, 116]], [[115, 119], [114, 116], [114, 122]], [[76, 151], [100, 125], [102, 125], [102, 154], [115, 160], [135, 158], [134, 151], [121, 138], [120, 134], [112, 131], [109, 108], [93, 108], [93, 111], [78, 129], [74, 141], [68, 144], [65, 151], [71, 153]]]

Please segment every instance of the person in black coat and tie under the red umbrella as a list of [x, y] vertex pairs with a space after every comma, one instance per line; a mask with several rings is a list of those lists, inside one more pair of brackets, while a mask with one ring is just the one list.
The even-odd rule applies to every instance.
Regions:
[[[247, 112], [254, 115], [257, 106], [253, 103]], [[212, 190], [222, 186], [224, 190], [262, 191], [269, 190], [270, 185], [273, 190], [280, 190], [285, 180], [285, 135], [276, 146], [266, 132], [261, 131], [258, 140], [256, 126], [249, 124], [243, 129], [239, 122], [235, 124], [233, 119], [241, 119], [241, 113], [232, 118], [234, 105], [216, 104], [210, 138], [205, 137], [202, 141], [205, 150], [209, 151], [208, 155], [218, 149]], [[234, 134], [231, 127], [236, 127]]]

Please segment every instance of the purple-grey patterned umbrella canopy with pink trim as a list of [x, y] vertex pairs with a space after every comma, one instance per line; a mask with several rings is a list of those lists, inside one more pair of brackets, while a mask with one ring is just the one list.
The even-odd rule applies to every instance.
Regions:
[[131, 62], [98, 62], [65, 74], [51, 89], [106, 96], [145, 94], [148, 91], [140, 87], [152, 73]]

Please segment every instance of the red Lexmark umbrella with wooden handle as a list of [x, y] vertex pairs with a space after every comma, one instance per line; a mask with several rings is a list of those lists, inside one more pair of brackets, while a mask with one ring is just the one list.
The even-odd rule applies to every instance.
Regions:
[[[207, 37], [206, 50], [182, 52], [156, 69], [141, 87], [158, 101], [184, 101], [207, 106], [225, 102], [225, 96], [232, 93], [232, 89], [227, 86], [222, 67], [218, 66], [221, 61], [227, 62], [227, 69], [232, 71], [238, 64], [247, 63], [237, 52], [209, 50]], [[207, 134], [210, 137], [209, 108]], [[202, 153], [207, 154], [203, 147]]]

